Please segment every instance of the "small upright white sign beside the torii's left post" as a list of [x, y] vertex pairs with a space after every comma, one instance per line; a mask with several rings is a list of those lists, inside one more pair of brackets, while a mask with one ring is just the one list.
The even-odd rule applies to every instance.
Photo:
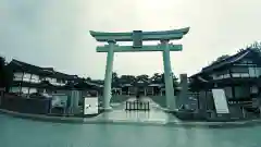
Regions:
[[84, 114], [98, 113], [98, 97], [86, 97], [84, 105]]

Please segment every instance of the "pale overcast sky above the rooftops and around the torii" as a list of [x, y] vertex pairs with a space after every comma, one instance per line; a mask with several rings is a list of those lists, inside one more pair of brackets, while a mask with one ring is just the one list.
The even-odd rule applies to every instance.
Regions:
[[[221, 54], [261, 38], [260, 0], [0, 0], [0, 54], [39, 66], [103, 78], [105, 53], [89, 30], [190, 27], [172, 52], [172, 70], [191, 75]], [[115, 53], [122, 74], [163, 71], [161, 52]]]

